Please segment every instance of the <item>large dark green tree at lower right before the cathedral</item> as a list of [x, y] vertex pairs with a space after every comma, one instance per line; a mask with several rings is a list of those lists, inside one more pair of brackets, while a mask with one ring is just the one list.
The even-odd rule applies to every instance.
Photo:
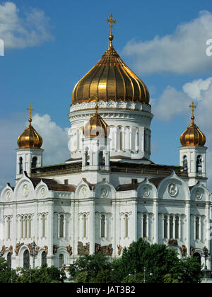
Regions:
[[[179, 259], [177, 252], [165, 245], [146, 243], [141, 238], [124, 249], [122, 258], [112, 262], [117, 282], [130, 282], [135, 274], [136, 282], [199, 282], [201, 266], [195, 258]], [[138, 279], [138, 274], [140, 278]]]

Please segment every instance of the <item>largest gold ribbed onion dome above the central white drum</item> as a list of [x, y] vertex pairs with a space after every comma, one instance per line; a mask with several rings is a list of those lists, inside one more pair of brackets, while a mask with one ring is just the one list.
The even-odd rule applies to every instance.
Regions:
[[103, 101], [131, 101], [149, 103], [148, 88], [141, 79], [120, 59], [112, 45], [100, 61], [81, 78], [72, 93], [72, 104]]

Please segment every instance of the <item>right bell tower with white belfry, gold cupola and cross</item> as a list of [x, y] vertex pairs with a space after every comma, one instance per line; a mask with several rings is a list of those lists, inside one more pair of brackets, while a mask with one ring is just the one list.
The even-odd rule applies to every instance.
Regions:
[[196, 106], [192, 102], [192, 105], [189, 105], [189, 107], [192, 108], [192, 124], [180, 136], [182, 146], [179, 147], [179, 165], [184, 166], [184, 171], [188, 173], [189, 186], [196, 185], [197, 182], [201, 182], [201, 184], [206, 186], [207, 148], [204, 146], [206, 136], [194, 124], [194, 108]]

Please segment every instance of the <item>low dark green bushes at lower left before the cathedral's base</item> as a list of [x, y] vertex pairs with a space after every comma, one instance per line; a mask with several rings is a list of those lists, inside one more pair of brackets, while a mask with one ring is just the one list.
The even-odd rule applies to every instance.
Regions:
[[28, 270], [19, 268], [17, 272], [19, 274], [17, 283], [61, 283], [66, 278], [64, 272], [54, 266], [42, 266]]

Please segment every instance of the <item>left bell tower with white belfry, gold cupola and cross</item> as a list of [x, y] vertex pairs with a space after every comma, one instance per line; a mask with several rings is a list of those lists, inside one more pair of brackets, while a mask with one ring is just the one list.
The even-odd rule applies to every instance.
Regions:
[[27, 110], [30, 111], [29, 125], [20, 136], [18, 136], [17, 144], [17, 162], [16, 162], [16, 180], [22, 177], [26, 171], [30, 175], [32, 168], [42, 166], [42, 137], [33, 128], [31, 105]]

